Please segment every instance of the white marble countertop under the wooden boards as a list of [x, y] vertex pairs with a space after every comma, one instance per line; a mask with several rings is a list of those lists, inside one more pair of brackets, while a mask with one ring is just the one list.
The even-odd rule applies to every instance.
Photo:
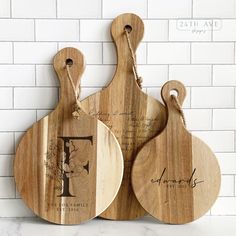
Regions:
[[0, 236], [235, 236], [236, 216], [204, 216], [186, 225], [161, 224], [146, 216], [135, 221], [93, 219], [82, 225], [54, 225], [39, 218], [0, 218]]

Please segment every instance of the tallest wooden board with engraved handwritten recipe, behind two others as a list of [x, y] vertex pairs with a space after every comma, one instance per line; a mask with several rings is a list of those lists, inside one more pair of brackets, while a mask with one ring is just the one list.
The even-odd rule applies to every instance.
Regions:
[[[124, 177], [112, 204], [100, 216], [114, 220], [129, 220], [145, 215], [131, 186], [131, 168], [137, 151], [164, 128], [164, 106], [148, 96], [137, 85], [124, 28], [129, 33], [134, 51], [140, 43], [144, 25], [134, 14], [122, 14], [114, 19], [111, 35], [117, 49], [117, 68], [109, 85], [82, 101], [88, 114], [104, 122], [117, 137], [124, 157]], [[144, 78], [145, 79], [145, 78]], [[158, 79], [158, 78], [157, 78]]]

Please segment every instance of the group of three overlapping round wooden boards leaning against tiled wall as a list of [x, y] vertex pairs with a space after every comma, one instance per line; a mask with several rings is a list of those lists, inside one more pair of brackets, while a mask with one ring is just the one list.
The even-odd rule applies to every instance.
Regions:
[[81, 102], [83, 54], [64, 48], [55, 55], [60, 101], [23, 136], [14, 163], [17, 189], [41, 218], [80, 224], [96, 216], [132, 220], [150, 214], [183, 224], [216, 200], [219, 165], [186, 129], [184, 85], [163, 85], [164, 105], [141, 89], [135, 51], [143, 33], [137, 15], [114, 19], [115, 75]]

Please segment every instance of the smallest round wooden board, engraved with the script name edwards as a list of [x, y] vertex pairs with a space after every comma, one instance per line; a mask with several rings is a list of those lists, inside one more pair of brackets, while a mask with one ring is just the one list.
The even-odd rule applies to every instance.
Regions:
[[163, 86], [167, 125], [138, 153], [132, 184], [149, 214], [165, 223], [183, 224], [210, 209], [219, 193], [221, 178], [214, 153], [186, 130], [171, 91], [177, 91], [179, 105], [184, 101], [183, 84], [170, 81]]

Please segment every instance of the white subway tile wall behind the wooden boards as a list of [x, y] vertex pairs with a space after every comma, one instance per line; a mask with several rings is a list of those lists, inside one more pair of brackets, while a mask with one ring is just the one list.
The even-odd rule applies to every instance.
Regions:
[[208, 214], [236, 215], [236, 0], [0, 0], [0, 217], [33, 215], [17, 193], [13, 161], [24, 132], [58, 102], [53, 56], [80, 49], [81, 98], [99, 91], [116, 68], [110, 24], [126, 12], [145, 24], [143, 91], [161, 100], [163, 83], [182, 81], [188, 129], [219, 160], [220, 196]]

